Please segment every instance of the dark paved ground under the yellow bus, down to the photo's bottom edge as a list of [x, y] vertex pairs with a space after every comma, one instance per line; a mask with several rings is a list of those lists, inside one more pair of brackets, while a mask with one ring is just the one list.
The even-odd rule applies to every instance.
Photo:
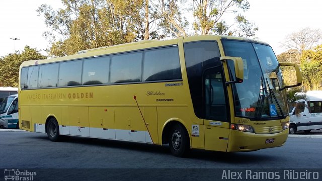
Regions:
[[[44, 133], [0, 129], [0, 153], [8, 153], [0, 158], [0, 168], [3, 168], [0, 169], [0, 180], [4, 179], [4, 170], [8, 168], [35, 171], [35, 181], [216, 181], [229, 180], [222, 179], [222, 175], [223, 171], [230, 170], [244, 173], [246, 170], [274, 171], [281, 175], [280, 179], [284, 178], [282, 173], [285, 170], [319, 172], [322, 176], [322, 157], [318, 156], [322, 142], [313, 138], [322, 138], [321, 134], [319, 130], [309, 134], [299, 132], [290, 135], [285, 145], [277, 148], [238, 153], [193, 150], [188, 158], [177, 158], [171, 155], [169, 146], [84, 137], [51, 142]], [[279, 180], [274, 178], [258, 180]]]

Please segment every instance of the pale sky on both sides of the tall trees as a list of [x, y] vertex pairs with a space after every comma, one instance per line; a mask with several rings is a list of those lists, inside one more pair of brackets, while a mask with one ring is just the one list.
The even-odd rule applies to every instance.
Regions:
[[[255, 37], [269, 43], [276, 55], [286, 51], [281, 47], [285, 37], [302, 28], [322, 30], [318, 0], [248, 0], [250, 10], [244, 15], [259, 30]], [[0, 57], [22, 51], [26, 45], [41, 50], [50, 44], [42, 36], [48, 29], [42, 16], [37, 16], [41, 4], [51, 5], [54, 10], [63, 8], [60, 0], [11, 0], [0, 2]], [[19, 40], [12, 40], [12, 39]]]

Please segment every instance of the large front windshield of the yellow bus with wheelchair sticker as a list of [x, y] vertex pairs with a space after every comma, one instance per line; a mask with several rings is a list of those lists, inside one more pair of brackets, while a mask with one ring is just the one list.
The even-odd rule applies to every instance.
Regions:
[[[238, 117], [270, 119], [288, 114], [279, 63], [268, 45], [223, 40], [225, 56], [241, 57], [244, 81], [232, 85], [234, 109]], [[275, 119], [274, 118], [274, 119]]]

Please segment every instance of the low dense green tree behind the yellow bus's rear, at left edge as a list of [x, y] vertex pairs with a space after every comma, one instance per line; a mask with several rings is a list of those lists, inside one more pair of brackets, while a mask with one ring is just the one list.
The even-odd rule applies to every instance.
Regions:
[[0, 59], [0, 85], [18, 87], [19, 67], [23, 61], [46, 59], [36, 48], [25, 46], [19, 53], [8, 54]]

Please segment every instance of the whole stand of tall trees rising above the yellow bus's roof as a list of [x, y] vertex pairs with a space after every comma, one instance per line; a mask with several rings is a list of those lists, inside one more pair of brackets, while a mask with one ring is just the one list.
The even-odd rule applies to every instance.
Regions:
[[[61, 0], [64, 8], [43, 4], [43, 16], [51, 31], [44, 37], [52, 44], [50, 56], [65, 56], [83, 49], [128, 43], [135, 40], [189, 36], [194, 17], [195, 34], [254, 36], [257, 27], [237, 10], [246, 11], [246, 0]], [[193, 8], [194, 7], [194, 8]], [[235, 29], [224, 14], [234, 13]]]

